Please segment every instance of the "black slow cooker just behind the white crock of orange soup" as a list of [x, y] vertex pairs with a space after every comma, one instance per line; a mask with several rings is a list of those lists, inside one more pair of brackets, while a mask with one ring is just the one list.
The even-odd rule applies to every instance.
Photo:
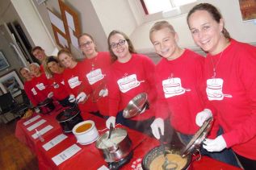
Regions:
[[73, 126], [83, 121], [80, 113], [81, 111], [78, 110], [78, 107], [70, 107], [57, 115], [56, 119], [65, 133], [72, 132]]

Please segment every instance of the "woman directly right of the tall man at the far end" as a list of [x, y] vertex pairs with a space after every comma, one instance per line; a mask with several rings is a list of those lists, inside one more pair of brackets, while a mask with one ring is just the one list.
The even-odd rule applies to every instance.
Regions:
[[63, 73], [64, 69], [59, 60], [54, 56], [49, 56], [44, 63], [44, 71], [48, 76], [48, 82], [53, 92], [53, 97], [61, 103], [61, 106], [73, 106], [69, 102], [69, 93], [65, 89]]

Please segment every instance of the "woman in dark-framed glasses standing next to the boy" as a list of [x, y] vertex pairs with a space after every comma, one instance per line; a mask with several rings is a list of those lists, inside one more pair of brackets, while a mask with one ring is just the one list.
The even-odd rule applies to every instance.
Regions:
[[[156, 87], [155, 65], [148, 56], [137, 54], [131, 40], [121, 31], [111, 31], [107, 39], [113, 64], [107, 75], [109, 90], [109, 115], [107, 128], [121, 122], [137, 131], [152, 135], [150, 124], [154, 119]], [[132, 118], [124, 118], [123, 111], [128, 102], [140, 93], [148, 94], [149, 109]]]

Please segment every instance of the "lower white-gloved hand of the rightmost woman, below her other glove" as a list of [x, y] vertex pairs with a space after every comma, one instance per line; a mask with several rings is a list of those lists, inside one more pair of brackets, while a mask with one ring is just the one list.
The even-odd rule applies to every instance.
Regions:
[[216, 139], [205, 139], [203, 147], [207, 151], [222, 151], [227, 147], [227, 143], [222, 135], [219, 135]]

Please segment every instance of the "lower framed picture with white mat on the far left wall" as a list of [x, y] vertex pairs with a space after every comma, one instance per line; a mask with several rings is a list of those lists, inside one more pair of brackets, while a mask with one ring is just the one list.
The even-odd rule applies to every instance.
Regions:
[[3, 93], [10, 92], [13, 97], [17, 97], [21, 94], [21, 90], [24, 89], [24, 86], [15, 70], [11, 70], [0, 77], [0, 89]]

